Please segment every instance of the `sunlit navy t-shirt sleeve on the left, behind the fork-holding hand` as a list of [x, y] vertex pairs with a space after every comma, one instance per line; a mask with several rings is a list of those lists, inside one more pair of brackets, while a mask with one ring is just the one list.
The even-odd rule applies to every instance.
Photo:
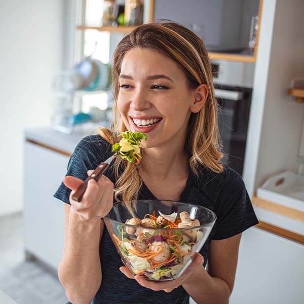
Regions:
[[[105, 157], [102, 155], [104, 144], [100, 145], [100, 143], [104, 142], [105, 141], [103, 139], [97, 140], [92, 135], [84, 137], [74, 148], [74, 151], [68, 161], [65, 176], [70, 175], [85, 181], [88, 177], [87, 171], [94, 170], [101, 162], [98, 162], [96, 156], [101, 156], [102, 159], [105, 159]], [[71, 189], [61, 182], [53, 197], [70, 205], [70, 193]]]

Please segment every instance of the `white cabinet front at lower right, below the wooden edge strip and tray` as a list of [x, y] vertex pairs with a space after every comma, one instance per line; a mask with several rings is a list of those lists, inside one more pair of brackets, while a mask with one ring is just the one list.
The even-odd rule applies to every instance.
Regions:
[[304, 245], [252, 227], [242, 235], [230, 304], [300, 304]]

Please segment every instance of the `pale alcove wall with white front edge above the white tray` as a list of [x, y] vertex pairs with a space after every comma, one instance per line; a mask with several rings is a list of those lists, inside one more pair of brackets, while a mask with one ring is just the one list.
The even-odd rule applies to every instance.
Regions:
[[303, 106], [290, 103], [292, 78], [303, 77], [302, 0], [263, 2], [244, 180], [253, 195], [269, 176], [296, 170]]

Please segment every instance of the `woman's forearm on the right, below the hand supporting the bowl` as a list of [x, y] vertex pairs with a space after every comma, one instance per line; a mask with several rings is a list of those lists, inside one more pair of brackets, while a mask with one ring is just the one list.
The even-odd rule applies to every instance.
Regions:
[[198, 265], [192, 280], [182, 284], [185, 291], [198, 304], [227, 304], [230, 297], [230, 289], [227, 283], [211, 277], [203, 265]]

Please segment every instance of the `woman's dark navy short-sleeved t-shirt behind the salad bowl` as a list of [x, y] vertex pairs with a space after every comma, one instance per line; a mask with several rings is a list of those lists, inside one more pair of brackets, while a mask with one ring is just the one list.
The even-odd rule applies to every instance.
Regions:
[[[99, 135], [84, 137], [75, 147], [68, 162], [66, 175], [85, 180], [87, 171], [94, 170], [99, 163], [112, 155], [111, 145]], [[105, 174], [115, 182], [112, 169]], [[69, 203], [70, 189], [60, 184], [55, 198]], [[143, 183], [138, 199], [154, 199], [156, 197]], [[158, 198], [166, 200], [166, 198]], [[211, 240], [222, 240], [239, 233], [258, 223], [241, 176], [231, 168], [225, 167], [221, 173], [214, 173], [202, 167], [199, 176], [190, 170], [186, 186], [180, 196], [180, 201], [201, 205], [213, 210], [217, 220], [200, 253], [208, 260]], [[136, 280], [128, 279], [119, 270], [123, 266], [106, 227], [99, 244], [102, 269], [102, 282], [92, 304], [136, 303], [136, 304], [185, 304], [189, 295], [182, 286], [170, 293], [153, 291], [142, 287]], [[90, 284], [90, 282], [88, 282]], [[202, 289], [204, 286], [202, 286]]]

